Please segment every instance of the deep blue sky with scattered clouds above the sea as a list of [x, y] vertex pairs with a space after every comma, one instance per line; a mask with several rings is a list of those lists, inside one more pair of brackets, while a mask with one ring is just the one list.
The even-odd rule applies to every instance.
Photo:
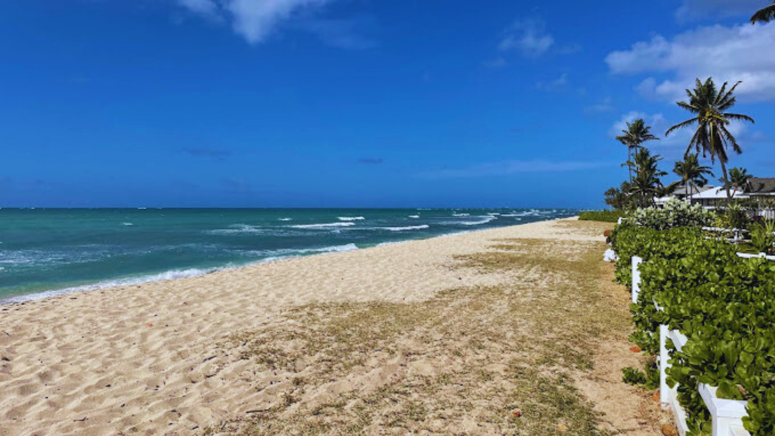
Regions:
[[708, 75], [775, 176], [767, 3], [2, 2], [0, 206], [599, 207]]

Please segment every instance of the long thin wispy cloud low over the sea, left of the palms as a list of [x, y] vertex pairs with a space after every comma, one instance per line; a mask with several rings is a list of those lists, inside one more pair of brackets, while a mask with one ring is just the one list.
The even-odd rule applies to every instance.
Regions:
[[613, 167], [618, 164], [602, 161], [501, 161], [477, 164], [465, 168], [444, 168], [424, 171], [421, 178], [477, 178], [536, 172], [570, 172]]

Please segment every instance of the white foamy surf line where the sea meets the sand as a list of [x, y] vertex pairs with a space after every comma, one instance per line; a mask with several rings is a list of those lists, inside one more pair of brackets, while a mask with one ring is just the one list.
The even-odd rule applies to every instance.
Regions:
[[[569, 216], [566, 218], [555, 218], [552, 220], [538, 220], [538, 221], [532, 221], [532, 223], [545, 223], [545, 222], [551, 222], [556, 220], [577, 220], [578, 216]], [[493, 230], [493, 229], [502, 229], [502, 228], [508, 228], [508, 227], [518, 227], [525, 224], [531, 224], [531, 223], [522, 223], [522, 224], [514, 224], [512, 226], [503, 226], [503, 227], [488, 227], [486, 229], [479, 229], [479, 230], [457, 230], [453, 231], [449, 234], [439, 234], [432, 237], [421, 237], [416, 239], [407, 239], [407, 240], [397, 240], [397, 241], [387, 241], [382, 242], [376, 245], [372, 245], [369, 247], [357, 247], [356, 244], [352, 243], [351, 245], [355, 246], [355, 248], [350, 248], [347, 250], [337, 250], [338, 248], [342, 247], [327, 247], [330, 249], [335, 249], [332, 251], [325, 251], [325, 252], [319, 252], [314, 253], [316, 249], [308, 249], [308, 251], [313, 251], [311, 254], [295, 254], [295, 255], [288, 255], [288, 256], [274, 256], [270, 258], [263, 258], [257, 261], [250, 261], [243, 265], [222, 265], [222, 266], [215, 266], [210, 268], [185, 268], [185, 269], [171, 269], [164, 272], [156, 272], [156, 273], [150, 273], [150, 274], [143, 274], [143, 275], [137, 275], [133, 277], [123, 277], [123, 278], [117, 278], [117, 279], [106, 279], [101, 280], [99, 282], [94, 282], [90, 284], [84, 284], [84, 285], [76, 285], [76, 286], [67, 286], [64, 288], [57, 288], [57, 289], [49, 289], [46, 291], [41, 292], [33, 292], [30, 294], [23, 294], [19, 296], [11, 296], [8, 298], [0, 298], [0, 308], [4, 306], [13, 306], [16, 304], [26, 304], [30, 302], [40, 301], [43, 299], [50, 299], [50, 298], [57, 298], [59, 296], [67, 296], [73, 293], [81, 293], [81, 292], [93, 292], [93, 291], [105, 291], [110, 289], [119, 289], [126, 286], [136, 286], [136, 285], [146, 285], [148, 283], [157, 283], [157, 282], [171, 282], [174, 280], [180, 280], [180, 279], [191, 279], [195, 277], [202, 277], [205, 275], [211, 275], [218, 272], [229, 272], [229, 271], [238, 271], [242, 268], [251, 268], [257, 265], [265, 265], [269, 263], [274, 263], [277, 261], [287, 261], [289, 259], [297, 259], [297, 258], [308, 258], [312, 256], [325, 256], [329, 254], [339, 254], [343, 252], [348, 251], [360, 251], [360, 250], [368, 250], [370, 248], [376, 248], [376, 247], [384, 247], [387, 245], [395, 245], [395, 244], [405, 244], [407, 242], [413, 242], [417, 240], [432, 240], [437, 237], [452, 237], [462, 234], [470, 234], [480, 231], [487, 231], [487, 230]], [[320, 250], [324, 250], [325, 248], [321, 248]], [[167, 277], [168, 276], [168, 277]]]

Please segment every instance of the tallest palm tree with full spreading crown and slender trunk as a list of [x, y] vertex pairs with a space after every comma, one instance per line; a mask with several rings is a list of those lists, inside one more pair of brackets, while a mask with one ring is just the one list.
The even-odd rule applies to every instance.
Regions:
[[689, 141], [689, 147], [686, 150], [686, 156], [694, 148], [697, 153], [702, 151], [703, 157], [711, 155], [711, 162], [715, 163], [716, 158], [722, 164], [722, 172], [726, 182], [727, 198], [732, 199], [732, 192], [729, 191], [729, 176], [726, 171], [726, 164], [729, 162], [727, 148], [732, 146], [732, 150], [737, 154], [742, 153], [737, 140], [729, 132], [727, 127], [730, 121], [749, 121], [754, 123], [753, 118], [739, 113], [725, 112], [735, 106], [735, 88], [742, 82], [735, 83], [732, 88], [727, 90], [728, 83], [724, 83], [719, 90], [713, 83], [712, 78], [708, 78], [704, 83], [697, 79], [694, 90], [686, 90], [689, 96], [689, 102], [678, 102], [680, 108], [693, 113], [694, 118], [687, 119], [683, 123], [676, 124], [667, 130], [665, 135], [670, 135], [673, 131], [683, 129], [684, 127], [697, 124], [697, 130]]

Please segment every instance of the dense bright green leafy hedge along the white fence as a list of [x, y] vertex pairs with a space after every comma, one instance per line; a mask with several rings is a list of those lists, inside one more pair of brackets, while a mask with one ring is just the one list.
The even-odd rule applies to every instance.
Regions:
[[717, 386], [722, 398], [746, 400], [751, 434], [775, 434], [775, 263], [739, 258], [735, 246], [685, 228], [618, 226], [613, 242], [619, 282], [631, 284], [632, 255], [646, 261], [632, 340], [657, 353], [660, 324], [688, 338], [680, 352], [669, 344], [667, 375], [680, 385], [691, 434], [710, 430], [698, 382]]

